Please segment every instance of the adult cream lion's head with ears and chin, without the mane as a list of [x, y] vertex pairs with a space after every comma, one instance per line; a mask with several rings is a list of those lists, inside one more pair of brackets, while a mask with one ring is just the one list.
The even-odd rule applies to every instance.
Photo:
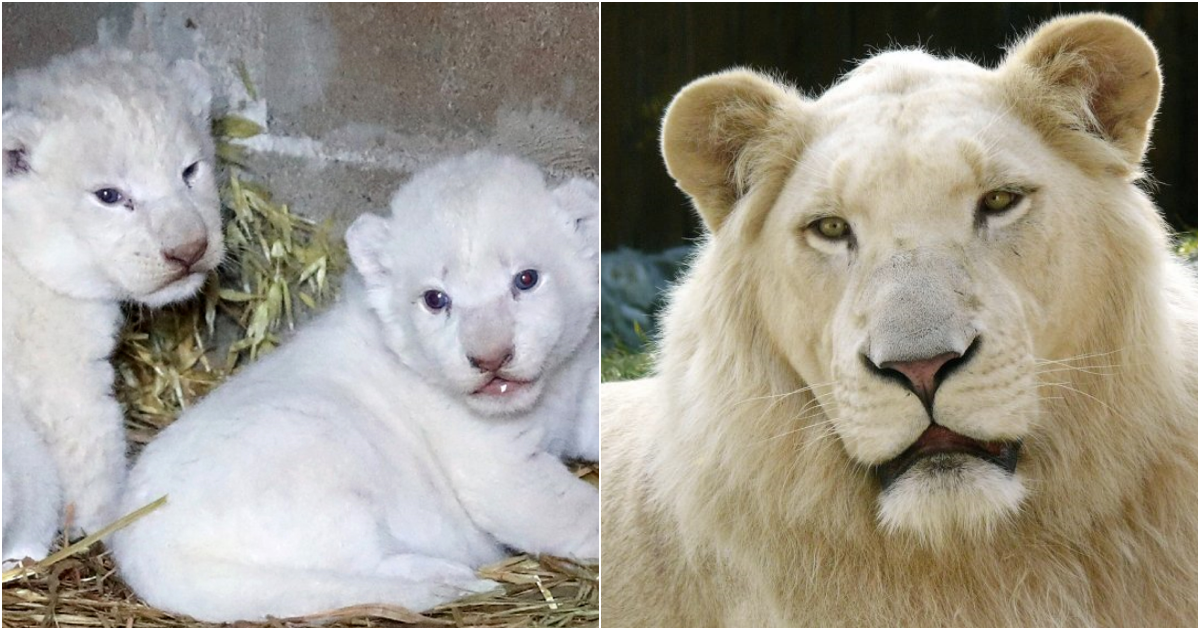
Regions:
[[[684, 90], [664, 130], [672, 175], [820, 407], [800, 421], [874, 473], [883, 529], [926, 541], [1002, 526], [1052, 466], [1028, 448], [1046, 430], [1039, 371], [1094, 328], [1079, 305], [1099, 301], [1106, 262], [1080, 244], [1121, 221], [1157, 97], [1152, 56], [1128, 67], [1147, 83], [1102, 85], [1120, 113], [1045, 106], [1096, 85], [1022, 100], [1021, 64], [887, 53], [816, 101], [734, 72]], [[1057, 136], [1085, 122], [1103, 133]]]

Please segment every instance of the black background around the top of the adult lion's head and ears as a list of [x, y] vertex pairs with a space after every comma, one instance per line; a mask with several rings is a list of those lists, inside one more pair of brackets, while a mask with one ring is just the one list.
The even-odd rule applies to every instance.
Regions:
[[602, 248], [656, 251], [700, 234], [659, 156], [671, 97], [702, 74], [778, 70], [820, 94], [857, 60], [894, 47], [994, 67], [1003, 46], [1060, 13], [1104, 11], [1153, 40], [1163, 66], [1147, 170], [1176, 229], [1196, 226], [1196, 4], [605, 4], [601, 11]]

